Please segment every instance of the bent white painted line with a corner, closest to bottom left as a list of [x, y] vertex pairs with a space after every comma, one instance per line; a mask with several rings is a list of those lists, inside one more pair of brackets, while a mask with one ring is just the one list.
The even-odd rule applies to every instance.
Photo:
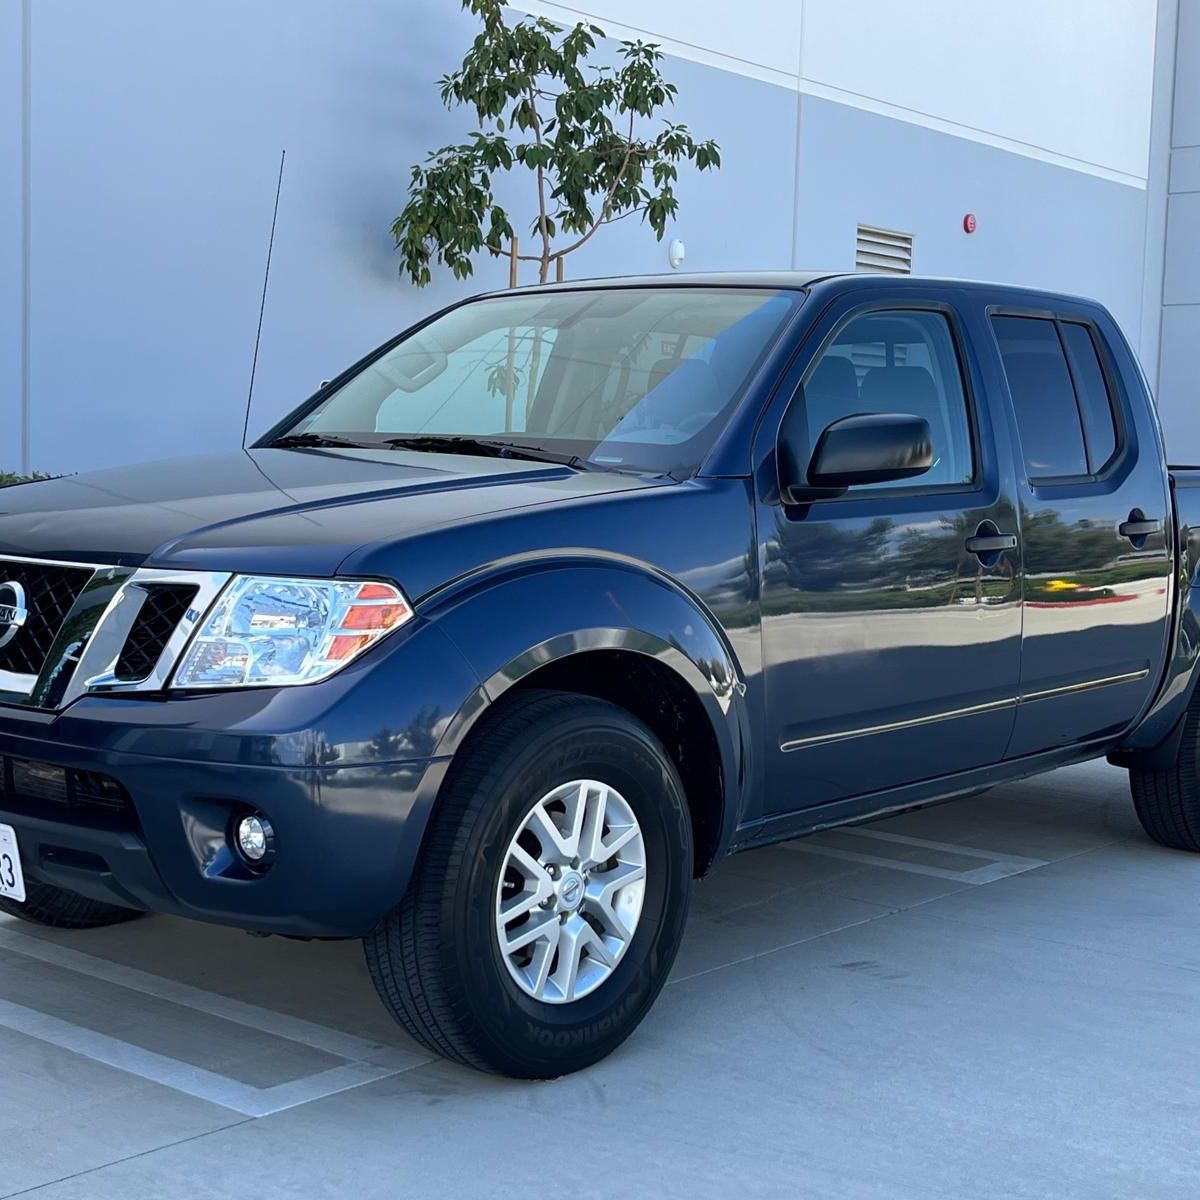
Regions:
[[138, 1075], [152, 1084], [161, 1084], [199, 1100], [233, 1109], [247, 1117], [265, 1117], [283, 1109], [295, 1108], [298, 1104], [307, 1104], [310, 1100], [318, 1100], [377, 1079], [400, 1074], [398, 1070], [388, 1067], [360, 1062], [335, 1067], [332, 1070], [281, 1084], [277, 1087], [252, 1087], [205, 1070], [203, 1067], [193, 1067], [178, 1058], [156, 1054], [154, 1050], [130, 1045], [128, 1042], [112, 1038], [107, 1033], [85, 1030], [7, 1000], [0, 1000], [0, 1025], [38, 1042], [71, 1050], [94, 1062]]

